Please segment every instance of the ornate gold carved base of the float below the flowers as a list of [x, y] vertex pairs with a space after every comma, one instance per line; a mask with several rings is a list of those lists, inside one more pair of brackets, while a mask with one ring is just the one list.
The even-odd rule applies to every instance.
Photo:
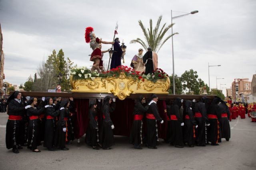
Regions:
[[156, 83], [145, 80], [138, 80], [138, 78], [132, 78], [126, 76], [123, 72], [119, 77], [96, 77], [93, 80], [91, 78], [83, 80], [72, 80], [70, 77], [72, 92], [81, 93], [109, 93], [114, 94], [120, 100], [124, 100], [130, 94], [168, 94], [170, 88], [170, 79], [166, 77], [166, 80], [158, 80]]

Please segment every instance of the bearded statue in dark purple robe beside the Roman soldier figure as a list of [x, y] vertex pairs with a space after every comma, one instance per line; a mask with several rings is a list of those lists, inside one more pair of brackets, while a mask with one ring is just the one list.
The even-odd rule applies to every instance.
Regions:
[[110, 69], [116, 68], [117, 66], [121, 66], [121, 57], [122, 57], [122, 49], [120, 47], [120, 41], [119, 38], [115, 38], [114, 40], [114, 53], [112, 55]]

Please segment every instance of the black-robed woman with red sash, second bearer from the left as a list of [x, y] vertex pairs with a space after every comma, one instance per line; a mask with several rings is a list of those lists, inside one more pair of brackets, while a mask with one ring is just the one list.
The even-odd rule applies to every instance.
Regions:
[[28, 149], [32, 150], [33, 152], [41, 152], [37, 149], [38, 146], [38, 121], [39, 115], [44, 111], [44, 107], [41, 109], [37, 109], [35, 106], [37, 104], [37, 98], [30, 98], [27, 102], [27, 105], [31, 107], [27, 109], [27, 116], [29, 117], [28, 122]]

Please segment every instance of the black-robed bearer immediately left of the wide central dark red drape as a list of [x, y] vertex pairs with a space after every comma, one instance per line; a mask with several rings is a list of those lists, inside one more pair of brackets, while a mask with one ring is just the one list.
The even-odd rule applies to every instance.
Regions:
[[[113, 101], [113, 103], [112, 103]], [[113, 129], [114, 125], [110, 119], [110, 113], [115, 109], [115, 102], [110, 96], [104, 98], [102, 105], [102, 129], [100, 131], [100, 143], [103, 149], [111, 149], [110, 147], [114, 143]]]

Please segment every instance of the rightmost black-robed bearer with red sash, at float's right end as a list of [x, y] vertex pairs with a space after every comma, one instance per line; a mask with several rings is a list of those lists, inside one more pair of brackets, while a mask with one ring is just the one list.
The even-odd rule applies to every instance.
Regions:
[[230, 139], [230, 125], [229, 125], [229, 118], [230, 118], [230, 111], [226, 103], [221, 100], [219, 104], [220, 113], [221, 113], [221, 138], [225, 138], [226, 141]]

